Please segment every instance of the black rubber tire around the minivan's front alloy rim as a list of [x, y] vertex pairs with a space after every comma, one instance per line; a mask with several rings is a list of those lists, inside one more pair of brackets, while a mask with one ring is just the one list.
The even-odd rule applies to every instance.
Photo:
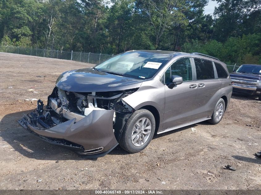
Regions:
[[[148, 118], [151, 122], [151, 132], [144, 144], [142, 144], [141, 146], [135, 146], [131, 140], [132, 130], [136, 122], [144, 117]], [[122, 132], [122, 135], [120, 137], [119, 144], [121, 148], [123, 148], [124, 150], [130, 153], [140, 152], [141, 150], [146, 148], [149, 142], [152, 140], [154, 132], [155, 132], [155, 118], [153, 114], [146, 109], [137, 110], [132, 114], [132, 116], [129, 117], [124, 127], [124, 130]]]

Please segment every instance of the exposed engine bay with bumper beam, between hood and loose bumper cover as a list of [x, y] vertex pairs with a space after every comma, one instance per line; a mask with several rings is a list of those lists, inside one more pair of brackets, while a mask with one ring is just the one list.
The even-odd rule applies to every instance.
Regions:
[[[51, 117], [54, 124], [60, 124], [72, 118], [76, 118], [75, 122], [78, 122], [93, 110], [114, 110], [112, 122], [115, 124], [118, 114], [135, 112], [131, 106], [122, 100], [135, 91], [137, 89], [88, 93], [64, 91], [55, 87], [53, 93], [48, 97], [46, 108], [59, 115]], [[49, 117], [47, 117], [48, 119]]]

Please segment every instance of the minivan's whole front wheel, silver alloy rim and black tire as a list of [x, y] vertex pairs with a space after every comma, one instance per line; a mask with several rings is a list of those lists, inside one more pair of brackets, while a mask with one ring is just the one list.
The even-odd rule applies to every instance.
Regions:
[[[142, 125], [143, 121], [144, 125]], [[153, 114], [146, 109], [137, 110], [129, 117], [120, 137], [119, 144], [121, 148], [130, 153], [140, 152], [152, 140], [154, 132], [155, 118]]]

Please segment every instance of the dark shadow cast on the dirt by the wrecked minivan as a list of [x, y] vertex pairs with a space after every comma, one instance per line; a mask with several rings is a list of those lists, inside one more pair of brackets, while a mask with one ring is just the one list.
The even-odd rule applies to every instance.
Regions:
[[[0, 121], [0, 137], [2, 141], [6, 141], [11, 147], [28, 158], [34, 158], [37, 160], [97, 160], [90, 158], [82, 158], [74, 152], [59, 147], [57, 145], [49, 144], [32, 133], [28, 132], [26, 129], [22, 128], [18, 123], [27, 113], [33, 110], [27, 110], [23, 112], [16, 112], [5, 115]], [[202, 122], [204, 125], [208, 125], [207, 122]], [[195, 127], [196, 124], [187, 127], [172, 130], [170, 132], [155, 134], [153, 139], [157, 139], [162, 136], [166, 136], [171, 133], [177, 133], [184, 129]], [[123, 150], [120, 146], [117, 146], [108, 155], [128, 155], [129, 152]]]

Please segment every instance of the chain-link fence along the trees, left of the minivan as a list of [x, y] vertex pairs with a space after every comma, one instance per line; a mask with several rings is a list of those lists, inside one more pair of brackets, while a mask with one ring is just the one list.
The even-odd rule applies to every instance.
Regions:
[[55, 51], [46, 49], [33, 49], [33, 48], [23, 48], [23, 47], [9, 47], [0, 46], [0, 52], [13, 53], [13, 54], [23, 54], [23, 55], [33, 55], [45, 58], [57, 58], [57, 59], [67, 59], [74, 60], [78, 62], [86, 62], [91, 64], [98, 64], [104, 60], [113, 56], [109, 54], [97, 54], [97, 53], [84, 53], [84, 52], [68, 52], [68, 51]]

